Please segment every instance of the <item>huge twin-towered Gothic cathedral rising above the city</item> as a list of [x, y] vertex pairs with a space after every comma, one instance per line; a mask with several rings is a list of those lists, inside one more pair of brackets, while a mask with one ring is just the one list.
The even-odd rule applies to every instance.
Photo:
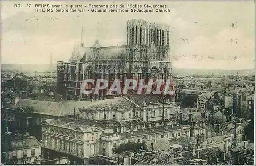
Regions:
[[[83, 96], [82, 81], [86, 79], [167, 80], [171, 77], [169, 27], [142, 19], [127, 21], [127, 45], [102, 46], [98, 40], [84, 46], [83, 35], [74, 45], [68, 62], [58, 61], [58, 93], [68, 98], [104, 99], [106, 91]], [[90, 87], [86, 87], [90, 88]], [[174, 87], [172, 87], [173, 90]]]

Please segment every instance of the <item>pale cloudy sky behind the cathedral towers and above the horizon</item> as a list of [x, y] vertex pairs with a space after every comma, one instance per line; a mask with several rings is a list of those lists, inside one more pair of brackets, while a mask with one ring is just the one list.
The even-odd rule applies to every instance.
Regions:
[[[17, 3], [17, 2], [16, 2]], [[74, 43], [98, 39], [103, 46], [126, 44], [126, 21], [145, 19], [170, 26], [174, 68], [255, 68], [255, 4], [237, 2], [15, 2], [1, 1], [1, 63], [48, 64], [68, 61]], [[26, 8], [26, 4], [31, 4]], [[167, 13], [35, 12], [35, 4], [167, 5]], [[68, 8], [69, 9], [69, 8]], [[91, 9], [91, 8], [90, 8]], [[232, 28], [234, 23], [235, 28]], [[186, 39], [186, 40], [183, 40]], [[237, 39], [237, 43], [236, 43]]]

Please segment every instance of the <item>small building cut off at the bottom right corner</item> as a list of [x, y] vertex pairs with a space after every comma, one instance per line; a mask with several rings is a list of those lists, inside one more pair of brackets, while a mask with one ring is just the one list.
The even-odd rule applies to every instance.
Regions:
[[243, 141], [231, 150], [234, 165], [254, 165], [254, 143]]

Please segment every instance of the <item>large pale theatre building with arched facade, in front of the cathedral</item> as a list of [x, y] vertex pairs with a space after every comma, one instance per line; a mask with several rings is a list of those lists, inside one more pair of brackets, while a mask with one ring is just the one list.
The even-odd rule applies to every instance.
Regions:
[[71, 163], [84, 164], [90, 157], [112, 157], [113, 149], [120, 144], [190, 136], [190, 126], [179, 124], [179, 106], [150, 94], [131, 91], [79, 111], [79, 119], [44, 121], [45, 155], [59, 152], [73, 158]]

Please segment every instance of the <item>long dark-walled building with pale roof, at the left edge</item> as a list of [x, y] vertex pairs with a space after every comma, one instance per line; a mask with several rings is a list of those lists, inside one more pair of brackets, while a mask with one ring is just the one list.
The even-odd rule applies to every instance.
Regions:
[[[96, 101], [94, 101], [96, 102]], [[61, 100], [59, 102], [5, 98], [1, 108], [2, 130], [35, 136], [41, 140], [41, 122], [46, 119], [78, 117], [78, 108], [94, 102]]]

